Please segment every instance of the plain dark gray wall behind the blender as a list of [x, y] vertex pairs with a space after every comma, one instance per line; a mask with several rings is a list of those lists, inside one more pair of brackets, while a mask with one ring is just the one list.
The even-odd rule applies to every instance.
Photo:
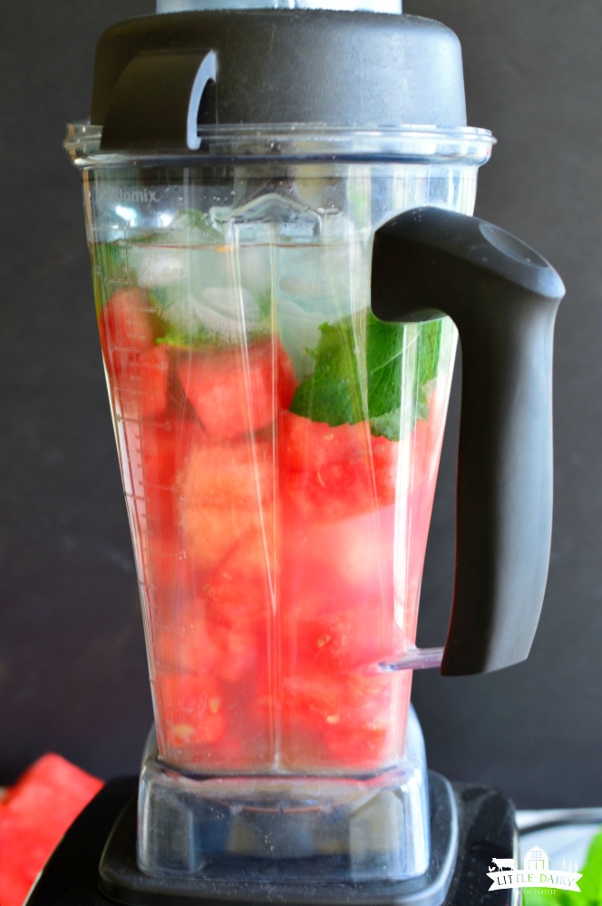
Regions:
[[[35, 0], [2, 14], [0, 785], [53, 749], [109, 777], [138, 768], [150, 693], [131, 542], [64, 122], [87, 115], [95, 37], [151, 0]], [[549, 589], [529, 661], [422, 674], [430, 764], [521, 806], [602, 804], [602, 5], [406, 0], [460, 35], [471, 125], [499, 145], [477, 213], [568, 287], [555, 370]], [[456, 394], [457, 396], [457, 394]], [[457, 408], [455, 406], [452, 408]], [[422, 596], [441, 643], [452, 587], [454, 430]]]

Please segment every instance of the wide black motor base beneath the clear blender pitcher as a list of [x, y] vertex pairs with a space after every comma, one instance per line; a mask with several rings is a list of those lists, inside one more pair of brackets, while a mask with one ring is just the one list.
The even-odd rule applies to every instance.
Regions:
[[[136, 865], [138, 778], [115, 780], [65, 834], [27, 906], [106, 906], [107, 900], [129, 906], [186, 906], [193, 900], [207, 906], [227, 902], [239, 906], [257, 906], [259, 902], [289, 906], [467, 906], [476, 902], [481, 906], [510, 906], [514, 902], [512, 891], [488, 892], [487, 872], [494, 857], [516, 857], [514, 805], [502, 794], [482, 786], [449, 784], [439, 774], [429, 774], [429, 786], [432, 859], [422, 878], [380, 884], [299, 883], [288, 885], [287, 890], [280, 885], [267, 890], [264, 884], [259, 893], [258, 882], [231, 883], [229, 889], [221, 882], [220, 890], [214, 884], [213, 889], [202, 891], [198, 880], [188, 885], [173, 879], [157, 881], [140, 872]], [[458, 814], [457, 833], [453, 821], [451, 827], [449, 823], [454, 810]]]

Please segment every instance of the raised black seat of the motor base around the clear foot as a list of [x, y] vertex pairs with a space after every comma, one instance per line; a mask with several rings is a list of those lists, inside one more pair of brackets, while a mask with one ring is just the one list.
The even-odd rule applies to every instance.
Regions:
[[[147, 903], [155, 906], [168, 899], [172, 903], [180, 902], [180, 906], [190, 899], [242, 906], [264, 902], [357, 906], [407, 902], [439, 906], [452, 880], [458, 824], [451, 785], [440, 775], [431, 774], [429, 789], [431, 862], [425, 874], [403, 882], [381, 881], [378, 873], [377, 880], [364, 880], [354, 874], [353, 860], [343, 853], [266, 859], [240, 853], [232, 855], [218, 847], [200, 877], [188, 879], [179, 872], [163, 878], [150, 877], [136, 865], [137, 809], [132, 801], [121, 814], [103, 854], [101, 888], [112, 900], [139, 906]], [[375, 854], [374, 861], [378, 861]], [[383, 878], [387, 869], [387, 854], [383, 852], [379, 872]]]

